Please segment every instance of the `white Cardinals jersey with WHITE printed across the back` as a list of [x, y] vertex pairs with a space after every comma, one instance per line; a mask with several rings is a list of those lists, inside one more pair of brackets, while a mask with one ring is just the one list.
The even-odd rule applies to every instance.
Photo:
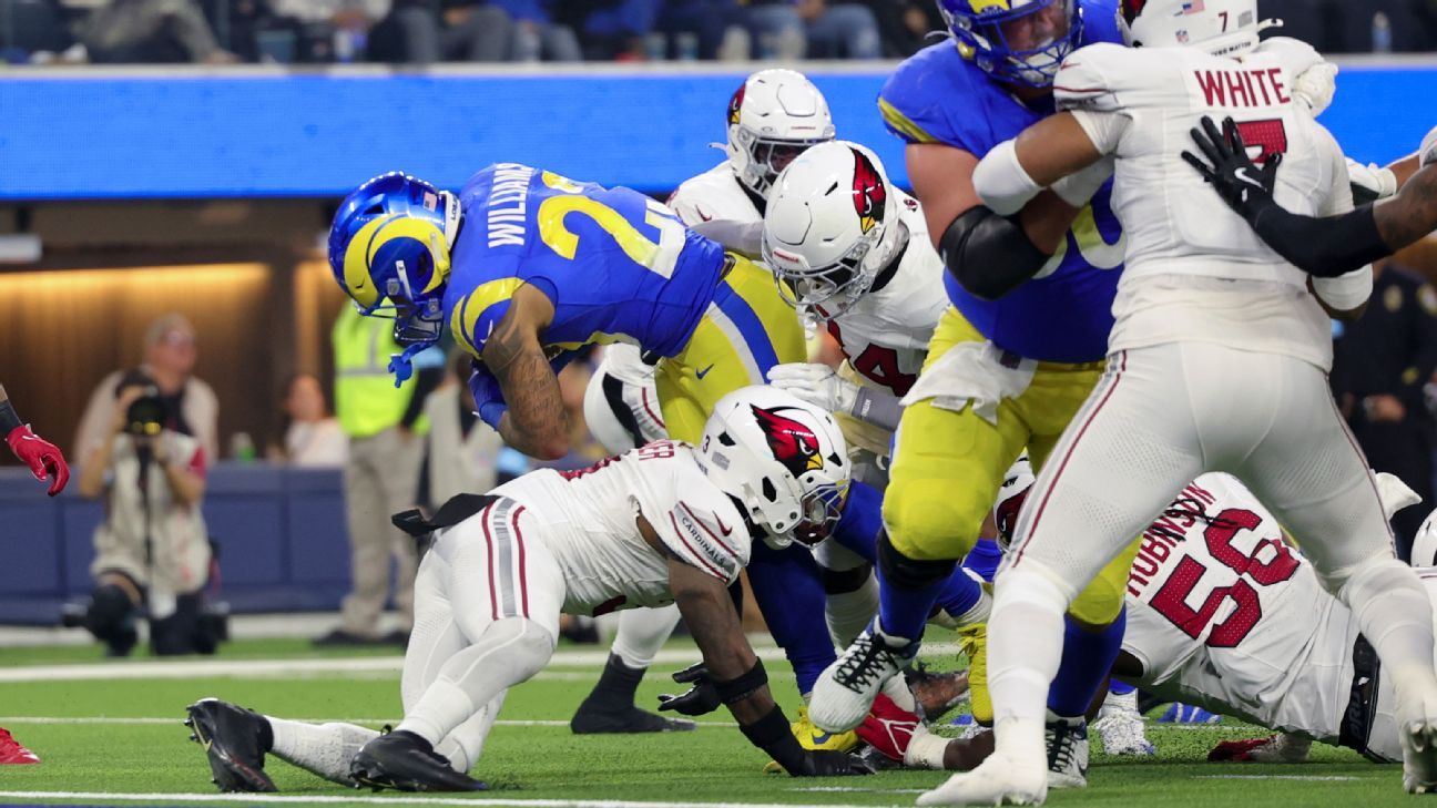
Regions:
[[[1283, 154], [1277, 204], [1309, 216], [1351, 210], [1342, 151], [1292, 102], [1290, 86], [1280, 60], [1260, 50], [1229, 59], [1196, 47], [1092, 45], [1063, 63], [1059, 108], [1117, 157], [1112, 207], [1127, 249], [1109, 351], [1206, 341], [1331, 365], [1328, 316], [1306, 290], [1308, 275], [1272, 252], [1181, 158], [1196, 151], [1188, 132], [1203, 115], [1232, 116], [1250, 150]], [[1371, 270], [1316, 279], [1315, 288], [1335, 306], [1355, 308], [1371, 290]]]

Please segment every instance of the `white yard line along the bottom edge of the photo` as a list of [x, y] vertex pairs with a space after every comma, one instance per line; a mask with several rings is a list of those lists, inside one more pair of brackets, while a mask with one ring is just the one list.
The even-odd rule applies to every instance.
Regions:
[[491, 799], [491, 798], [460, 798], [460, 796], [368, 796], [355, 794], [354, 796], [315, 795], [300, 796], [292, 794], [131, 794], [108, 791], [0, 791], [0, 799], [85, 799], [93, 802], [244, 802], [249, 805], [274, 804], [335, 804], [335, 802], [372, 802], [375, 805], [512, 805], [516, 808], [624, 808], [638, 805], [641, 808], [861, 808], [858, 805], [787, 805], [762, 802], [642, 802], [635, 799]]

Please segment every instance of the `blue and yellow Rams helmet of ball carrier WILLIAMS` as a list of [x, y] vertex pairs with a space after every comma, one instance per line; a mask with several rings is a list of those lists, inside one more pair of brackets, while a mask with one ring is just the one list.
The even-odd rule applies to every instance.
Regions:
[[364, 315], [394, 318], [401, 345], [430, 344], [444, 326], [458, 198], [399, 171], [381, 174], [339, 203], [329, 229], [329, 269]]

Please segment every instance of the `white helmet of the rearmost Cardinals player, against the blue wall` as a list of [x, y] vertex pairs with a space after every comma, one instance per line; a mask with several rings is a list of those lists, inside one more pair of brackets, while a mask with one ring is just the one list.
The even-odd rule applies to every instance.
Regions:
[[760, 197], [799, 152], [831, 139], [828, 101], [803, 73], [759, 70], [729, 99], [729, 165]]

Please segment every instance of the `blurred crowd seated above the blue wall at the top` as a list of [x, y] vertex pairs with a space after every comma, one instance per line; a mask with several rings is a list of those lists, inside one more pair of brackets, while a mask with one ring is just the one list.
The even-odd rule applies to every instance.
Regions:
[[[1437, 0], [1266, 0], [1323, 53], [1426, 52]], [[11, 63], [894, 59], [928, 0], [0, 0]]]

